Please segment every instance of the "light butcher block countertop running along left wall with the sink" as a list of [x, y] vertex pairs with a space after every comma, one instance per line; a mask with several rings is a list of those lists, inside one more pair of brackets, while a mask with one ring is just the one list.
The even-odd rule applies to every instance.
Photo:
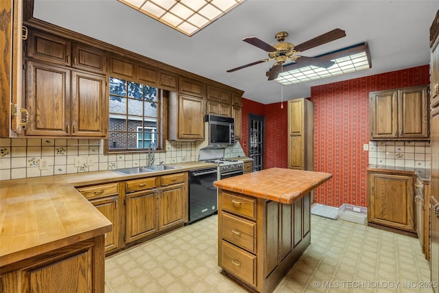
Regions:
[[113, 171], [0, 181], [0, 267], [111, 231], [111, 222], [75, 187], [212, 167], [121, 175]]

